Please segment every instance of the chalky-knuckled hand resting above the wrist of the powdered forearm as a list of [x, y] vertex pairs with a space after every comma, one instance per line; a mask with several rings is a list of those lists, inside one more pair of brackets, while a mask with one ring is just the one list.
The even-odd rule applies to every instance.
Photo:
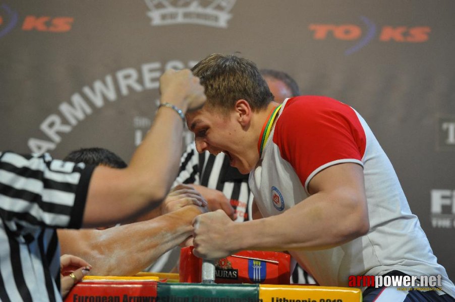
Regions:
[[161, 203], [161, 215], [178, 210], [186, 205], [207, 206], [207, 201], [192, 186], [180, 184], [175, 186]]

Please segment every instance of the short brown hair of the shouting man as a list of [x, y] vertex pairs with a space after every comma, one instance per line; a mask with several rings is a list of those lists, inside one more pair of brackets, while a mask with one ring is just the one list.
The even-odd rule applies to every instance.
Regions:
[[238, 100], [248, 101], [252, 110], [265, 109], [273, 95], [256, 64], [235, 55], [214, 53], [191, 69], [200, 78], [207, 106], [229, 112]]

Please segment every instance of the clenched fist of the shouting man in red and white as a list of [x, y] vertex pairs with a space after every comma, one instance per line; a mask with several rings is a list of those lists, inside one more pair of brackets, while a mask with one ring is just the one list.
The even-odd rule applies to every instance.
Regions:
[[220, 259], [233, 254], [230, 243], [236, 238], [226, 238], [225, 230], [235, 222], [222, 210], [196, 216], [193, 219], [193, 253], [204, 259]]

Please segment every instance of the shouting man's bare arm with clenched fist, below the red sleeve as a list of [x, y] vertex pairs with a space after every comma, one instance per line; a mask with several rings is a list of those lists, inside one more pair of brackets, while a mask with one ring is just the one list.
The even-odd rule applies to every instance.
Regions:
[[231, 222], [221, 211], [197, 216], [195, 255], [216, 259], [240, 250], [325, 249], [368, 232], [360, 165], [331, 166], [313, 177], [309, 190], [310, 197], [280, 215], [242, 223]]

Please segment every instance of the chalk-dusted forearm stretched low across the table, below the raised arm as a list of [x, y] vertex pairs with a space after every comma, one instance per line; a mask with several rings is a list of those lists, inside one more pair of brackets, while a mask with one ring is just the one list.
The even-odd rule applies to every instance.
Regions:
[[193, 218], [204, 209], [190, 205], [155, 219], [106, 230], [58, 230], [62, 254], [83, 258], [92, 275], [134, 275], [192, 235]]

